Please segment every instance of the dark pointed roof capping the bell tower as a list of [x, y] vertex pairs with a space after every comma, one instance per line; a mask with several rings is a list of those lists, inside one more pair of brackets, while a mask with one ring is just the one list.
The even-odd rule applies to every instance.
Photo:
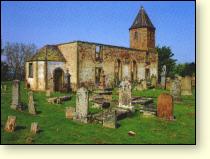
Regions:
[[136, 29], [136, 28], [155, 29], [154, 25], [152, 24], [151, 20], [149, 19], [143, 7], [141, 7], [141, 9], [139, 10], [139, 13], [137, 14], [132, 26], [130, 27], [130, 29]]

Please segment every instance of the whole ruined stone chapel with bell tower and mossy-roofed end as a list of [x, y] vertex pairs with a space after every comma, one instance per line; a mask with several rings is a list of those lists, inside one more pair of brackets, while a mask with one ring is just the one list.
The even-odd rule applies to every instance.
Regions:
[[85, 41], [45, 45], [26, 62], [26, 82], [32, 90], [61, 91], [65, 74], [71, 75], [71, 87], [97, 87], [105, 76], [106, 87], [130, 81], [158, 77], [158, 53], [155, 27], [141, 7], [129, 29], [130, 48]]

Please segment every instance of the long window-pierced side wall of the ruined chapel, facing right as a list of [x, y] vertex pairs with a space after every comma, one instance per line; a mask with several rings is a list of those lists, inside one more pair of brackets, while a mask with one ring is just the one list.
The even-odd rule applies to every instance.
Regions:
[[[100, 46], [100, 59], [96, 60], [96, 47]], [[95, 43], [78, 42], [79, 56], [79, 76], [81, 83], [95, 84], [95, 70], [102, 68], [104, 70], [106, 85], [112, 86], [116, 79], [116, 62], [121, 63], [121, 79], [126, 76], [131, 80], [133, 62], [136, 62], [136, 78], [145, 79], [146, 62], [150, 69], [150, 76], [157, 76], [157, 53], [154, 50], [149, 52], [146, 61], [146, 51], [129, 49], [124, 47], [115, 47], [111, 45], [101, 45]]]

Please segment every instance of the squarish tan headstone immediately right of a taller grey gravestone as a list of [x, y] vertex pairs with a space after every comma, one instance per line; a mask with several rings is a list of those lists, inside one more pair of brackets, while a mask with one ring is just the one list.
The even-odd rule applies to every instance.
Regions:
[[181, 80], [181, 95], [192, 95], [192, 83], [190, 76], [183, 77]]

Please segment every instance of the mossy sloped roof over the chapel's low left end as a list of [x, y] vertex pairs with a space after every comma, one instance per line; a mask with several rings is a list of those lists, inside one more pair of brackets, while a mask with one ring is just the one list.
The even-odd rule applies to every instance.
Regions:
[[65, 62], [63, 54], [55, 45], [45, 45], [28, 61], [59, 61]]

